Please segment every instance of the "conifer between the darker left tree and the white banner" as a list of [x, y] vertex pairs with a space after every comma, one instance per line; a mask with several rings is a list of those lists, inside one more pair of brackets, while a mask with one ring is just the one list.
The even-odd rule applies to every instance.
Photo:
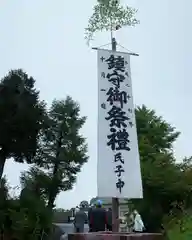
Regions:
[[80, 107], [70, 97], [53, 101], [49, 111], [49, 129], [39, 141], [34, 162], [41, 168], [31, 168], [22, 175], [23, 186], [39, 182], [41, 194], [50, 208], [56, 196], [69, 190], [77, 173], [87, 162], [87, 145], [79, 133], [86, 118], [80, 116]]

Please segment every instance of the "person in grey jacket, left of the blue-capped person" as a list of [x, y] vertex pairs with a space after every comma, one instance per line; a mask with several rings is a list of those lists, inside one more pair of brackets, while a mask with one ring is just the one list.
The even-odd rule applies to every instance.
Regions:
[[74, 226], [76, 233], [84, 232], [84, 225], [87, 222], [87, 214], [83, 210], [84, 208], [84, 205], [82, 205], [81, 208], [75, 213]]

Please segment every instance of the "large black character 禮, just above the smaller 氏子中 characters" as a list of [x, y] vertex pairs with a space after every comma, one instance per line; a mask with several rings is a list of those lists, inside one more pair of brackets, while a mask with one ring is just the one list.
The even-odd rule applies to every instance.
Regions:
[[[130, 147], [127, 146], [129, 141], [129, 134], [126, 132], [125, 129], [117, 130], [115, 128], [111, 128], [110, 131], [112, 132], [110, 135], [107, 135], [109, 141], [107, 142], [107, 146], [111, 147], [112, 151], [115, 150], [126, 150], [130, 151]], [[117, 145], [117, 146], [116, 146]]]

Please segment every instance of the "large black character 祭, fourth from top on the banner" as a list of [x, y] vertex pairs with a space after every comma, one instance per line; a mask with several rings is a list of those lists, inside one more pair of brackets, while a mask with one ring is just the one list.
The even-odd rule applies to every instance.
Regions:
[[110, 127], [116, 126], [118, 128], [121, 128], [121, 126], [126, 128], [127, 124], [125, 121], [130, 120], [130, 118], [126, 116], [126, 112], [123, 111], [120, 107], [116, 106], [113, 106], [111, 108], [111, 110], [108, 112], [108, 117], [105, 119], [111, 121]]

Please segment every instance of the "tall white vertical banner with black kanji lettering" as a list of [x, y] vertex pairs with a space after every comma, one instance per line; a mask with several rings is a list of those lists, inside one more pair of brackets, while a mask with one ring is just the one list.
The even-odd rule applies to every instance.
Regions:
[[98, 197], [142, 198], [130, 55], [98, 50]]

